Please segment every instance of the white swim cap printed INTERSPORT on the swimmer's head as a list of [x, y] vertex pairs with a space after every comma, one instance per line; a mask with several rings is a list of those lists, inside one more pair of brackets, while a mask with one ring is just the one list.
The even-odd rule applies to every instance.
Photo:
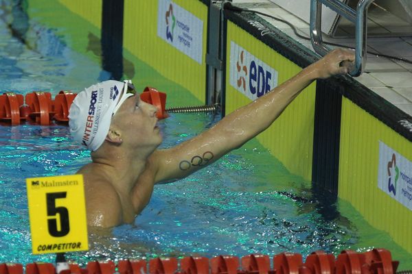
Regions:
[[132, 93], [127, 93], [130, 80], [109, 80], [85, 88], [78, 93], [69, 110], [70, 133], [91, 151], [97, 150], [106, 139], [111, 117]]

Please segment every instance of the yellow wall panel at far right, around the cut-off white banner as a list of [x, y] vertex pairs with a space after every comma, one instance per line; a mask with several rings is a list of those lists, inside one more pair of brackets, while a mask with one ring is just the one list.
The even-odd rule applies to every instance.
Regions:
[[339, 197], [412, 253], [412, 211], [378, 188], [379, 141], [412, 160], [412, 143], [343, 98]]

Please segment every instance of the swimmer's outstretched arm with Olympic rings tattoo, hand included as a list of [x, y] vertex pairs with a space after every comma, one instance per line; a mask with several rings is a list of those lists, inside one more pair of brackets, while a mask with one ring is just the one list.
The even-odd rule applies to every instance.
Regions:
[[190, 175], [232, 149], [241, 147], [269, 127], [314, 79], [345, 74], [353, 61], [354, 54], [350, 51], [332, 51], [271, 92], [225, 116], [206, 132], [176, 147], [156, 151], [152, 155], [153, 162], [159, 164], [155, 182]]

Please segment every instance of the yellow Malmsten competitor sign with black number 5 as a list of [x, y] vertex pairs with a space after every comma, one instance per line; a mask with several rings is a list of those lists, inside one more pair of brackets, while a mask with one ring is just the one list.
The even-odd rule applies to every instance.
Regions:
[[89, 249], [82, 175], [27, 178], [32, 251]]

